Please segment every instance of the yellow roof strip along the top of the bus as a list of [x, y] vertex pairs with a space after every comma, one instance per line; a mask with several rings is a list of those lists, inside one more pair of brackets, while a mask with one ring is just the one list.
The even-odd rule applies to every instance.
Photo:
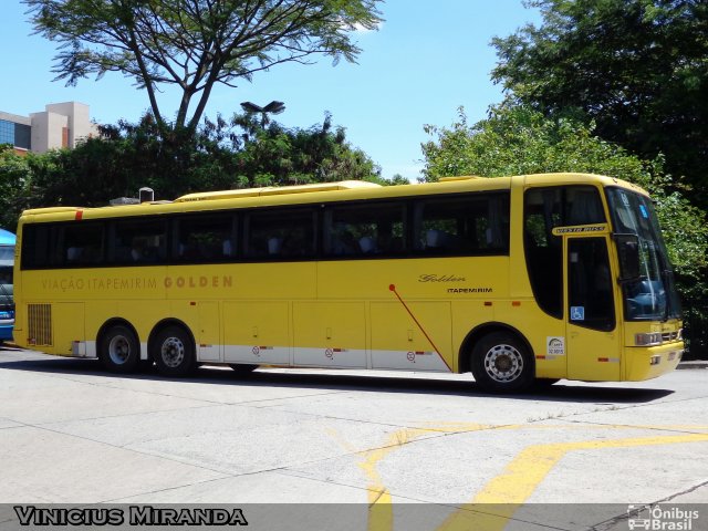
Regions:
[[275, 205], [306, 205], [320, 201], [343, 201], [358, 199], [394, 199], [437, 194], [509, 189], [512, 181], [521, 186], [554, 186], [574, 183], [600, 186], [620, 186], [647, 195], [631, 183], [592, 174], [537, 174], [516, 177], [446, 177], [438, 183], [419, 185], [381, 186], [374, 183], [345, 180], [283, 187], [244, 188], [222, 191], [188, 194], [174, 201], [153, 201], [138, 205], [105, 206], [95, 208], [50, 207], [24, 210], [22, 221], [62, 221], [71, 219], [119, 218], [171, 214], [176, 211], [209, 211], [230, 208], [252, 208]]

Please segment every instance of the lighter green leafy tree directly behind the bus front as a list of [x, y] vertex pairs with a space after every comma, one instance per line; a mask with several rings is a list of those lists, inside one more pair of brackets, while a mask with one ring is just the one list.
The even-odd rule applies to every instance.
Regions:
[[455, 175], [494, 177], [553, 171], [606, 175], [647, 189], [685, 296], [708, 293], [708, 225], [664, 173], [663, 159], [642, 160], [595, 136], [593, 127], [570, 118], [550, 119], [529, 107], [492, 107], [487, 119], [469, 125], [465, 111], [451, 127], [426, 126], [426, 180]]

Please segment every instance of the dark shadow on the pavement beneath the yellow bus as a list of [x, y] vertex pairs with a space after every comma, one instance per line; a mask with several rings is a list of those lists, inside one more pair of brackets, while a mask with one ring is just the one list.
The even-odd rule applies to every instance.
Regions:
[[622, 383], [603, 384], [586, 383], [582, 385], [564, 385], [564, 381], [542, 388], [534, 388], [522, 394], [490, 395], [481, 392], [471, 376], [469, 379], [444, 379], [435, 375], [430, 377], [406, 377], [400, 374], [317, 374], [317, 369], [258, 369], [247, 376], [239, 376], [232, 371], [217, 366], [200, 366], [196, 373], [186, 378], [169, 378], [157, 373], [155, 366], [135, 374], [115, 374], [103, 369], [97, 360], [77, 358], [41, 358], [0, 361], [0, 368], [27, 371], [46, 374], [95, 375], [119, 379], [189, 382], [210, 385], [248, 385], [250, 387], [287, 387], [330, 391], [362, 391], [376, 393], [413, 393], [449, 396], [486, 396], [490, 398], [528, 400], [528, 402], [568, 402], [592, 403], [601, 405], [646, 404], [659, 400], [674, 394], [671, 389], [650, 387], [626, 387]]

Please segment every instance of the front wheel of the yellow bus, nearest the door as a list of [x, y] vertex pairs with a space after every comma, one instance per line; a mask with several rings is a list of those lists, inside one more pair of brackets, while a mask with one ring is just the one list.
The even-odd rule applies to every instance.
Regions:
[[489, 393], [518, 393], [533, 383], [533, 357], [528, 346], [509, 332], [493, 332], [475, 344], [471, 360], [477, 385]]

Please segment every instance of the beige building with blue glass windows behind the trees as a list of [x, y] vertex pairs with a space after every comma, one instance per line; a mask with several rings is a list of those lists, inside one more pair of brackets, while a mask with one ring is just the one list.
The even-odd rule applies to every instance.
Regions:
[[83, 103], [51, 103], [43, 112], [29, 116], [0, 111], [0, 144], [12, 144], [19, 153], [74, 148], [82, 138], [97, 134], [96, 124], [88, 117], [88, 105]]

